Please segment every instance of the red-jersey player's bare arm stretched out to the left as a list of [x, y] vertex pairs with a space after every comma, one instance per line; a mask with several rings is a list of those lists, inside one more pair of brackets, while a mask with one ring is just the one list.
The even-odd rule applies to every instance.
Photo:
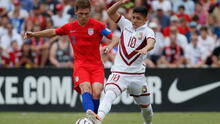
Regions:
[[25, 32], [24, 39], [29, 39], [31, 37], [53, 37], [56, 35], [56, 29], [46, 29], [38, 32]]

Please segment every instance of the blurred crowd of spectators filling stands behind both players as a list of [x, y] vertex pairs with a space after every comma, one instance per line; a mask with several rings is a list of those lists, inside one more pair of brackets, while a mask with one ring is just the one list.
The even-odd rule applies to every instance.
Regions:
[[[117, 1], [92, 0], [91, 17], [120, 37], [106, 12]], [[72, 67], [74, 53], [67, 36], [23, 40], [23, 35], [76, 20], [75, 2], [0, 0], [0, 68]], [[135, 6], [148, 8], [147, 23], [156, 35], [147, 67], [220, 67], [219, 0], [130, 0], [118, 11], [130, 19]], [[103, 38], [100, 49], [110, 42]], [[117, 47], [107, 54], [101, 51], [105, 68], [111, 68], [116, 52]]]

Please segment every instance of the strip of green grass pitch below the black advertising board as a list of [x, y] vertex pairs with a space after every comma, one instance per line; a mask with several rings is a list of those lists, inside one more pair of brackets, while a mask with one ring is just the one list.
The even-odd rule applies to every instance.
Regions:
[[[0, 112], [0, 124], [75, 124], [84, 113]], [[143, 124], [140, 113], [110, 113], [103, 124]], [[220, 124], [220, 113], [154, 113], [153, 124]]]

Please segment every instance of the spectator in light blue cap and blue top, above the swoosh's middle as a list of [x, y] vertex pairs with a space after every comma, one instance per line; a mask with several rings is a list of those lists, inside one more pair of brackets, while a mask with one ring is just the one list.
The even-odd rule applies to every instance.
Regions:
[[194, 33], [196, 33], [198, 35], [199, 31], [197, 30], [197, 23], [192, 21], [189, 23], [189, 31], [185, 35], [188, 40], [188, 43], [191, 42], [191, 35]]

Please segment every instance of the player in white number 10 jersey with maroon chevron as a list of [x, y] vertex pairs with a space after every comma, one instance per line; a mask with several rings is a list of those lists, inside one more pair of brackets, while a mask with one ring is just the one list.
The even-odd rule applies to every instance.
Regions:
[[[121, 39], [114, 65], [111, 68], [112, 74], [105, 85], [105, 96], [99, 106], [98, 114], [87, 111], [87, 117], [95, 124], [102, 123], [105, 115], [109, 113], [113, 101], [125, 90], [134, 97], [135, 102], [140, 106], [144, 123], [152, 123], [153, 111], [143, 63], [148, 51], [154, 48], [155, 35], [146, 24], [148, 12], [145, 7], [135, 7], [131, 21], [117, 12], [119, 7], [127, 1], [119, 0], [108, 9], [109, 17], [121, 29]], [[116, 44], [116, 42], [112, 42], [104, 50], [108, 52]]]

